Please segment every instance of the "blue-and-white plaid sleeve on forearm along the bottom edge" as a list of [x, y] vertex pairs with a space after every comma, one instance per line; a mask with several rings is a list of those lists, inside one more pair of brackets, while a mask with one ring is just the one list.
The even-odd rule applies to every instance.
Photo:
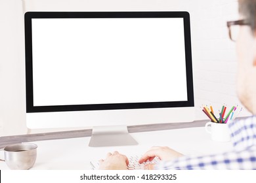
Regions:
[[161, 161], [155, 169], [256, 169], [256, 146], [242, 151], [209, 156], [183, 156], [173, 161]]

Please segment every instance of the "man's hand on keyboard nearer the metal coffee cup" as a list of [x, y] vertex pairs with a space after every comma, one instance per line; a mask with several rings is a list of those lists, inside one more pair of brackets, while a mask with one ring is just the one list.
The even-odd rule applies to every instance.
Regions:
[[113, 154], [108, 153], [106, 159], [100, 160], [100, 170], [127, 170], [127, 166], [129, 165], [128, 158], [123, 154], [119, 154], [119, 152], [115, 151]]

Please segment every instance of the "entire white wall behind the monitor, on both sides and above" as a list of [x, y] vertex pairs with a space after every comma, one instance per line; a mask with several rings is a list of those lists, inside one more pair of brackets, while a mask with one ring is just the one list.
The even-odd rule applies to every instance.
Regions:
[[239, 103], [235, 44], [226, 28], [237, 9], [237, 0], [0, 0], [0, 136], [26, 133], [23, 10], [190, 12], [196, 118], [204, 119], [202, 104]]

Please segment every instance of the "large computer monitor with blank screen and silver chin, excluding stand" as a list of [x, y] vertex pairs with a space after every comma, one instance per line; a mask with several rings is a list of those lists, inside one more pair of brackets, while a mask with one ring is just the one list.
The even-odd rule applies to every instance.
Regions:
[[26, 12], [25, 42], [31, 129], [194, 120], [188, 12]]

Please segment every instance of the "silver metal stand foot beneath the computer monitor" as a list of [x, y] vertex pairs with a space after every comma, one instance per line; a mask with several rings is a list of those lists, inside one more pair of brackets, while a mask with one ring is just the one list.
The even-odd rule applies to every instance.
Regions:
[[91, 135], [90, 147], [132, 146], [138, 142], [131, 137], [126, 125], [95, 126]]

